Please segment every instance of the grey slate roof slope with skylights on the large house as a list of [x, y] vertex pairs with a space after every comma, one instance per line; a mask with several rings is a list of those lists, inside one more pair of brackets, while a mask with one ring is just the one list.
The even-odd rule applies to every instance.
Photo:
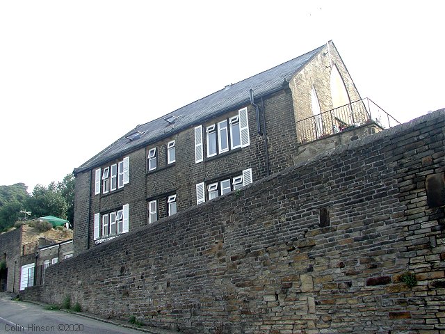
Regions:
[[[107, 161], [118, 159], [124, 154], [128, 154], [138, 148], [143, 148], [150, 143], [155, 143], [162, 138], [166, 138], [180, 132], [192, 125], [202, 124], [204, 120], [212, 118], [219, 113], [224, 113], [231, 109], [235, 109], [236, 106], [241, 106], [250, 102], [250, 89], [254, 90], [255, 97], [261, 97], [274, 91], [281, 90], [283, 88], [284, 80], [290, 81], [290, 79], [297, 72], [309, 63], [325, 45], [318, 47], [307, 54], [303, 54], [291, 61], [286, 61], [281, 65], [277, 65], [270, 70], [266, 70], [259, 74], [254, 75], [243, 81], [239, 81], [236, 84], [232, 84], [229, 88], [223, 88], [217, 92], [203, 97], [201, 100], [197, 100], [183, 106], [172, 113], [147, 122], [144, 125], [138, 125], [130, 132], [119, 138], [108, 148], [102, 150], [92, 157], [86, 163], [74, 169], [74, 175], [81, 173], [82, 171], [96, 168], [105, 164]], [[171, 125], [165, 120], [172, 116], [179, 117]], [[131, 141], [127, 138], [130, 134], [140, 132], [140, 136], [137, 139]]]

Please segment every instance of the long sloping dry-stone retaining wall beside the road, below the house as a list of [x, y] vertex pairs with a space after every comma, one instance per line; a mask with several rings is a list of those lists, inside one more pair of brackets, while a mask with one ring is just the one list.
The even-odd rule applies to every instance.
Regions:
[[445, 109], [325, 152], [49, 267], [23, 298], [183, 333], [439, 333], [426, 178], [444, 178], [444, 130]]

